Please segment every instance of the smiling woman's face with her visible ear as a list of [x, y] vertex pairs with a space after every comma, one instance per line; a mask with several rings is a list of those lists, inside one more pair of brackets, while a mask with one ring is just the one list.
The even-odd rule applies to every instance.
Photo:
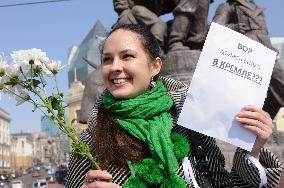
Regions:
[[160, 68], [160, 58], [151, 62], [138, 34], [118, 29], [106, 39], [102, 74], [106, 88], [115, 98], [133, 98], [147, 91]]

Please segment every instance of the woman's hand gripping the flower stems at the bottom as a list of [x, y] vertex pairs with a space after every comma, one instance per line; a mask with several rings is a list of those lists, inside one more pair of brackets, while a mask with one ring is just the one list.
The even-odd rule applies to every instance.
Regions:
[[90, 170], [81, 188], [120, 188], [119, 185], [108, 182], [111, 178], [106, 170]]

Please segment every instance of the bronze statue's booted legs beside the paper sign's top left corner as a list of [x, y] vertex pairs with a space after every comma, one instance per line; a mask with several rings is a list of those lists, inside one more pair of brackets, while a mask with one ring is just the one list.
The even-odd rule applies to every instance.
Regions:
[[181, 0], [173, 9], [168, 36], [169, 51], [201, 50], [208, 30], [210, 0]]

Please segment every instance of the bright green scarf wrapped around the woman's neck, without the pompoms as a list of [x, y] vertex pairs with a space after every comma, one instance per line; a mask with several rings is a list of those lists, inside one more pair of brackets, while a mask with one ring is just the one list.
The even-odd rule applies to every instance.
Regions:
[[103, 105], [119, 126], [148, 144], [152, 158], [168, 177], [176, 175], [178, 161], [170, 138], [173, 123], [169, 114], [173, 100], [162, 81], [132, 99], [116, 99], [107, 91]]

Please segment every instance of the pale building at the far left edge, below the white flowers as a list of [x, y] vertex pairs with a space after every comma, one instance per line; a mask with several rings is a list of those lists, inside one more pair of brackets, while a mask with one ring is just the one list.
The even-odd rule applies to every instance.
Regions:
[[11, 117], [0, 108], [0, 174], [11, 173]]

